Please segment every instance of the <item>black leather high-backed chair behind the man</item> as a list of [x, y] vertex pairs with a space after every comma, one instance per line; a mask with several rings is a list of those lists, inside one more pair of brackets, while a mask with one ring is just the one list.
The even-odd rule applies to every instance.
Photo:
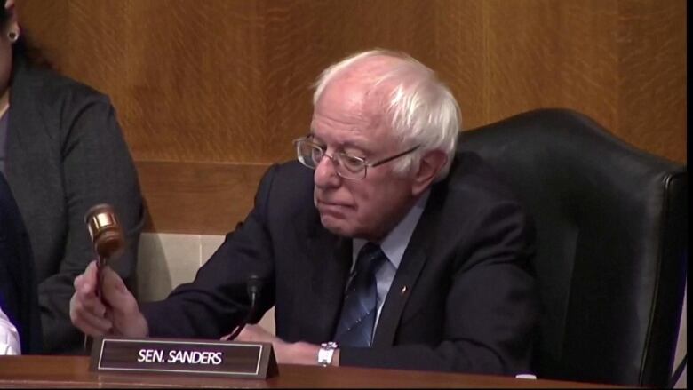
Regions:
[[688, 272], [686, 166], [565, 109], [464, 131], [459, 148], [482, 155], [535, 219], [538, 378], [667, 386]]

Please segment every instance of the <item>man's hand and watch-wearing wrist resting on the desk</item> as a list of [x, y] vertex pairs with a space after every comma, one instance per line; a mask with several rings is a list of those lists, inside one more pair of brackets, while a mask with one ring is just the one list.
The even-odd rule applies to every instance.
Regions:
[[[225, 338], [227, 339], [227, 336]], [[278, 363], [282, 364], [317, 364], [317, 353], [320, 346], [304, 342], [287, 343], [262, 329], [259, 325], [247, 325], [235, 338], [235, 341], [272, 343], [275, 348], [275, 356]], [[335, 351], [332, 365], [339, 365], [339, 349]]]

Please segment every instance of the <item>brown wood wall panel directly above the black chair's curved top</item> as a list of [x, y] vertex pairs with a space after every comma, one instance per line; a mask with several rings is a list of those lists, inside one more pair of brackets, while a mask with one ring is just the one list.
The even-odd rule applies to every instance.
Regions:
[[616, 25], [613, 5], [505, 4], [490, 7], [486, 17], [485, 122], [533, 107], [572, 107], [612, 129], [618, 94], [617, 58], [608, 34]]

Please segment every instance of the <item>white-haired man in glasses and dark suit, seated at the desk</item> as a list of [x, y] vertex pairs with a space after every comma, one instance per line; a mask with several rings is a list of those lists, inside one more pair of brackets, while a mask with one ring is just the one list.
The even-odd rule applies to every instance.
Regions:
[[450, 91], [417, 60], [371, 51], [326, 69], [314, 106], [299, 162], [267, 171], [195, 281], [140, 308], [107, 270], [104, 306], [92, 264], [75, 281], [76, 326], [219, 338], [248, 313], [258, 275], [253, 322], [275, 306], [276, 337], [251, 325], [236, 339], [272, 342], [279, 362], [527, 371], [533, 228], [479, 157], [456, 154]]

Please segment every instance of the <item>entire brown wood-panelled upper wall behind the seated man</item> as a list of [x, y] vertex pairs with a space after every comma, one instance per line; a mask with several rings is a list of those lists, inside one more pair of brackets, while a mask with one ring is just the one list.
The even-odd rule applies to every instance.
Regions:
[[310, 122], [315, 77], [373, 47], [409, 52], [436, 69], [458, 98], [465, 128], [569, 107], [636, 147], [687, 157], [685, 0], [17, 6], [22, 26], [60, 71], [111, 96], [138, 162], [234, 163], [236, 171], [247, 164], [252, 171], [291, 159], [291, 140]]

